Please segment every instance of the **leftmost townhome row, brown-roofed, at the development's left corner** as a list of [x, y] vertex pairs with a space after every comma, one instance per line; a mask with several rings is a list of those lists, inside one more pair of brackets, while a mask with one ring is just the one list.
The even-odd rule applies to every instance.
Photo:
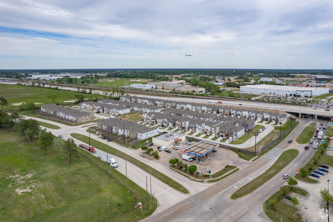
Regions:
[[[66, 119], [77, 124], [94, 120], [94, 114], [79, 110], [58, 106], [56, 104], [46, 104], [40, 107], [41, 112]], [[59, 116], [60, 115], [60, 116]]]

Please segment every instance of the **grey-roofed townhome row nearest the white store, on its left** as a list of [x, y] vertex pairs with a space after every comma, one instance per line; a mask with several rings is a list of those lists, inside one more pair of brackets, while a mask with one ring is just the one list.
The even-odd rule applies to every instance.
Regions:
[[147, 139], [159, 134], [156, 127], [145, 127], [143, 125], [120, 118], [108, 118], [97, 122], [97, 129], [106, 132], [124, 135], [131, 139]]

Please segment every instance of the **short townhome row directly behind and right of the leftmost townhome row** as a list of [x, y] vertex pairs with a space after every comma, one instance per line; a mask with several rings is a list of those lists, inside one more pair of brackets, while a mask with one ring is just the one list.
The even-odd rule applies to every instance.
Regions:
[[80, 109], [88, 109], [94, 112], [108, 113], [112, 115], [121, 115], [131, 112], [129, 107], [115, 106], [109, 104], [85, 101], [79, 104]]

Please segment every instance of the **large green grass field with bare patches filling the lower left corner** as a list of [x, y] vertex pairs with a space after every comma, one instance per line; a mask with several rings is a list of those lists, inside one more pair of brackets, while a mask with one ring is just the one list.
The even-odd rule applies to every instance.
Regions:
[[154, 199], [148, 211], [135, 208], [147, 204], [145, 191], [86, 151], [78, 149], [69, 165], [61, 148], [58, 156], [55, 146], [45, 155], [18, 133], [0, 136], [6, 138], [0, 142], [2, 221], [105, 221], [107, 193], [110, 217], [119, 221], [138, 221], [157, 207]]

